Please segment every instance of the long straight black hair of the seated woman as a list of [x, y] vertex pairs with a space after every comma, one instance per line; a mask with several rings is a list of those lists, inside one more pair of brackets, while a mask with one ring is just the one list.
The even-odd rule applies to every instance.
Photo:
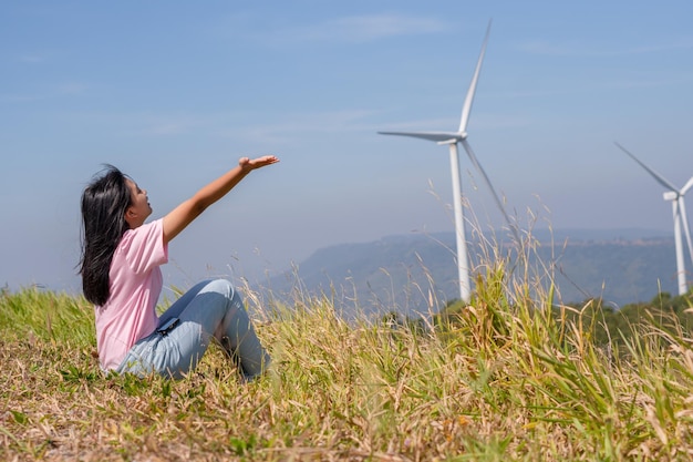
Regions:
[[96, 306], [108, 300], [113, 254], [130, 228], [125, 222], [125, 212], [132, 203], [127, 178], [113, 165], [106, 165], [82, 193], [80, 274], [84, 297]]

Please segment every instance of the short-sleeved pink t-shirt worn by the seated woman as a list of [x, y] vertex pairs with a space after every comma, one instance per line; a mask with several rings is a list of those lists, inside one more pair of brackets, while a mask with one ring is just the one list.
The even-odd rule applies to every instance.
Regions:
[[162, 292], [159, 265], [168, 261], [163, 220], [123, 235], [111, 263], [111, 295], [96, 307], [96, 346], [104, 370], [117, 368], [137, 340], [158, 325], [156, 302]]

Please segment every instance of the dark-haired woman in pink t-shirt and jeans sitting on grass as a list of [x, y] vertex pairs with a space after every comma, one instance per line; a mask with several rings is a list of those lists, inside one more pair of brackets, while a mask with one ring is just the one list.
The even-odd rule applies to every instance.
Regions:
[[80, 274], [84, 296], [95, 306], [104, 371], [182, 378], [195, 369], [211, 338], [236, 360], [245, 380], [267, 369], [269, 355], [229, 281], [194, 286], [161, 317], [156, 304], [168, 243], [248, 173], [277, 162], [273, 155], [242, 157], [236, 167], [149, 223], [145, 223], [152, 214], [147, 192], [116, 167], [107, 166], [86, 186]]

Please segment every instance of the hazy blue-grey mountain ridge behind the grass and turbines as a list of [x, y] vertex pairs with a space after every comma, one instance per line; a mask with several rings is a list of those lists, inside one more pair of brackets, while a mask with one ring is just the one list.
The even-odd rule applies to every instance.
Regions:
[[[495, 236], [469, 239], [472, 267], [513, 246]], [[497, 243], [484, 245], [482, 243]], [[541, 287], [551, 280], [560, 302], [600, 297], [622, 306], [674, 292], [673, 234], [658, 229], [536, 229], [528, 261]], [[495, 246], [495, 248], [494, 248]], [[289, 296], [297, 280], [306, 292], [330, 297], [346, 316], [437, 311], [458, 298], [454, 233], [389, 235], [366, 243], [317, 249], [291, 270], [270, 278], [275, 296]], [[550, 274], [541, 274], [550, 268]]]

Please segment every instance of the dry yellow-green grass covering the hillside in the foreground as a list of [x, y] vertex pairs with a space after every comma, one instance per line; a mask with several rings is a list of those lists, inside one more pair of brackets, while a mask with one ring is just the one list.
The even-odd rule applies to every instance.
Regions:
[[254, 306], [273, 363], [249, 384], [216, 348], [180, 381], [103, 374], [85, 300], [1, 291], [0, 460], [690, 459], [678, 318], [603, 348], [592, 307], [549, 309], [499, 261], [470, 307], [413, 327], [348, 324], [307, 295]]

